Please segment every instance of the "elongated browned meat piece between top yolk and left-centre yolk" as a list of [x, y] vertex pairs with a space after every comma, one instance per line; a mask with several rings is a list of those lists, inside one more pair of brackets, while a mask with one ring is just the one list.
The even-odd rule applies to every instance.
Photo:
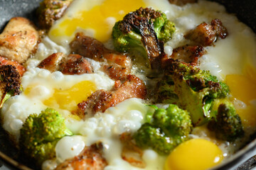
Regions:
[[70, 49], [73, 53], [88, 57], [104, 64], [104, 70], [114, 79], [124, 80], [132, 68], [132, 61], [127, 55], [107, 49], [102, 42], [87, 37], [83, 33], [77, 33], [75, 40], [70, 42]]

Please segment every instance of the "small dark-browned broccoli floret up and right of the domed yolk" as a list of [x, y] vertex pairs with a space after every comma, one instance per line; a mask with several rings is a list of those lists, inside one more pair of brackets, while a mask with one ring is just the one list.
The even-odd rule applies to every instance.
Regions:
[[216, 113], [208, 123], [208, 129], [214, 131], [218, 139], [232, 142], [244, 135], [241, 119], [230, 101], [215, 100], [212, 110]]

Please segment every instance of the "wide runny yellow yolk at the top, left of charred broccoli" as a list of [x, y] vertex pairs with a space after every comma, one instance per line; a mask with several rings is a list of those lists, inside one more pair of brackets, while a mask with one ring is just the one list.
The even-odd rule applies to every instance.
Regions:
[[110, 38], [114, 24], [110, 24], [107, 18], [115, 18], [115, 21], [122, 20], [124, 15], [142, 6], [145, 6], [142, 0], [105, 0], [89, 11], [78, 11], [74, 17], [65, 18], [50, 29], [49, 36], [55, 40], [61, 36], [70, 37], [77, 28], [92, 29], [95, 31], [94, 38], [105, 42]]

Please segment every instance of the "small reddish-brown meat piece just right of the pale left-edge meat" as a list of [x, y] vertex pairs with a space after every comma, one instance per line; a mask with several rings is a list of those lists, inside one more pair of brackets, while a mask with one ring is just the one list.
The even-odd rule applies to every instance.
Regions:
[[38, 64], [41, 69], [48, 69], [50, 72], [56, 72], [60, 69], [60, 62], [63, 60], [65, 55], [62, 52], [53, 53], [48, 56], [45, 60]]

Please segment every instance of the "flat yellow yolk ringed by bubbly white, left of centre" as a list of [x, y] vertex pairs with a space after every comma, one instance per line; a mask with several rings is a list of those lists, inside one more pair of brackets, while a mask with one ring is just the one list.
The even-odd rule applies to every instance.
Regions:
[[96, 90], [95, 84], [91, 81], [81, 81], [70, 89], [55, 89], [53, 96], [43, 103], [51, 108], [61, 108], [74, 111], [82, 101], [85, 101]]

